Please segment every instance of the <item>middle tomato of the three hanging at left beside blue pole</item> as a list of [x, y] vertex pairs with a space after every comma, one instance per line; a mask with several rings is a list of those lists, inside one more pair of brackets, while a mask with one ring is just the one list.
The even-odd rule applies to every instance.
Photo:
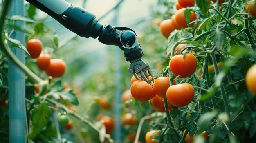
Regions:
[[51, 55], [41, 53], [37, 58], [36, 64], [40, 70], [47, 70], [51, 62]]

